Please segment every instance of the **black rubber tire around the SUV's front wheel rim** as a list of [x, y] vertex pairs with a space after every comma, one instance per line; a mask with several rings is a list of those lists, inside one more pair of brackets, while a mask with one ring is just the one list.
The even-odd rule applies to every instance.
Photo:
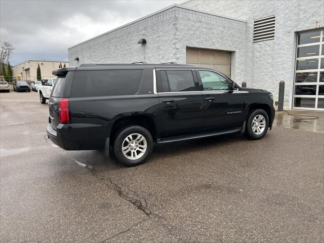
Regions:
[[[259, 126], [257, 126], [258, 128], [253, 129], [253, 125], [255, 124], [253, 119], [261, 117], [260, 115], [262, 117], [264, 117], [264, 121], [265, 121], [263, 131], [262, 131], [262, 128], [260, 128]], [[257, 124], [260, 124], [261, 126], [263, 126], [263, 124], [264, 124], [264, 123], [262, 123], [262, 120], [263, 120], [262, 117], [261, 117], [261, 120], [257, 123]], [[269, 128], [269, 116], [268, 116], [267, 112], [262, 109], [256, 109], [256, 110], [252, 111], [250, 116], [248, 117], [245, 134], [251, 140], [261, 139], [267, 133], [268, 128]], [[258, 129], [260, 129], [260, 130], [258, 130]]]

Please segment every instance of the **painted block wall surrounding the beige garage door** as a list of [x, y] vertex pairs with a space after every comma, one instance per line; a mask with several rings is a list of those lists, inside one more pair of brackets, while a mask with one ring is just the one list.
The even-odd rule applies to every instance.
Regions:
[[[232, 51], [232, 61], [234, 59], [235, 61], [232, 63], [231, 77], [237, 83], [245, 80], [245, 23], [237, 24], [223, 21], [213, 24], [180, 16], [176, 19], [174, 50], [177, 54], [177, 63], [186, 63], [186, 47]], [[243, 41], [234, 42], [233, 36]], [[240, 65], [235, 65], [235, 63]]]

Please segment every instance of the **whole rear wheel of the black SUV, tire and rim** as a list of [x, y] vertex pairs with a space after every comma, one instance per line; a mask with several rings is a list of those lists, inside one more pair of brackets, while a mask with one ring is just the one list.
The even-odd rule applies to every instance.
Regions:
[[153, 150], [153, 138], [147, 129], [131, 126], [122, 130], [113, 145], [117, 160], [125, 166], [138, 166]]

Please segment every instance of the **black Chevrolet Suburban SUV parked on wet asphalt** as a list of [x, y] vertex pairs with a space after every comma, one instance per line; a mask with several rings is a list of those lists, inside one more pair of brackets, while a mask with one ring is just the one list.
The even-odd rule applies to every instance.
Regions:
[[272, 95], [241, 89], [210, 68], [176, 64], [82, 64], [53, 71], [49, 138], [65, 150], [112, 147], [126, 166], [142, 164], [153, 144], [272, 127]]

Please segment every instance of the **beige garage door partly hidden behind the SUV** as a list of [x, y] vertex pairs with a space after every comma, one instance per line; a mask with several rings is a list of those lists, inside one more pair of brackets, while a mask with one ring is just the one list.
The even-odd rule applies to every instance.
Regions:
[[187, 64], [210, 67], [230, 77], [231, 53], [206, 49], [187, 48]]

